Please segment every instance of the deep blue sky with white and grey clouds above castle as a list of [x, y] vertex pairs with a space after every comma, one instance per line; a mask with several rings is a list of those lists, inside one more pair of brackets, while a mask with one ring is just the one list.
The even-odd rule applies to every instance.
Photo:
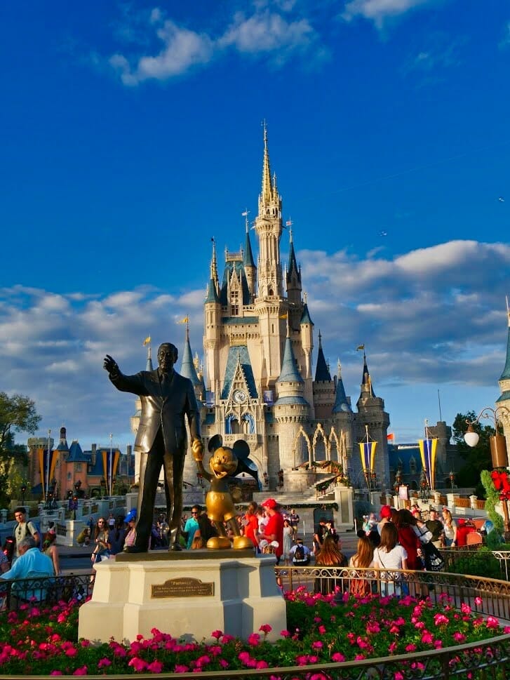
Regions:
[[137, 371], [189, 314], [201, 354], [210, 237], [236, 250], [255, 217], [262, 119], [353, 403], [361, 343], [397, 441], [438, 420], [438, 390], [447, 422], [499, 396], [509, 4], [21, 1], [0, 63], [0, 389], [41, 432], [125, 446], [105, 352]]

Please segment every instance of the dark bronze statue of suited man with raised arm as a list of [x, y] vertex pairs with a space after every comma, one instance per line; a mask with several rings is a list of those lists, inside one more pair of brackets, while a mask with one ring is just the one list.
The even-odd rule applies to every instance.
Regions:
[[147, 552], [154, 521], [154, 500], [161, 466], [165, 473], [167, 519], [170, 525], [170, 550], [180, 550], [182, 515], [182, 472], [187, 451], [184, 414], [188, 417], [194, 450], [202, 447], [199, 409], [191, 380], [176, 373], [177, 347], [164, 342], [158, 349], [159, 368], [123, 375], [116, 361], [105, 356], [103, 368], [121, 392], [140, 396], [142, 415], [135, 439], [140, 453], [135, 545], [127, 552]]

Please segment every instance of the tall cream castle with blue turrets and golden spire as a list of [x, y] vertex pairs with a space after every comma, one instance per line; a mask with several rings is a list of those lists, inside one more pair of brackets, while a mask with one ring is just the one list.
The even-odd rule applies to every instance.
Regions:
[[[288, 267], [282, 267], [282, 199], [276, 175], [271, 175], [265, 126], [262, 190], [252, 227], [258, 240], [256, 264], [245, 215], [244, 248], [225, 251], [222, 279], [213, 240], [204, 302], [205, 382], [197, 373], [188, 335], [184, 346], [180, 372], [192, 380], [202, 404], [204, 439], [221, 434], [227, 446], [245, 440], [266, 486], [283, 482], [294, 491], [302, 484], [296, 472], [327, 460], [340, 464], [354, 486], [367, 486], [358, 442], [377, 441], [370, 484], [389, 488], [389, 415], [384, 400], [375, 396], [364, 347], [356, 411], [346, 396], [340, 364], [337, 375], [331, 375], [320, 332], [314, 361], [314, 322], [291, 223], [286, 225]], [[187, 458], [184, 479], [194, 479], [194, 463]]]

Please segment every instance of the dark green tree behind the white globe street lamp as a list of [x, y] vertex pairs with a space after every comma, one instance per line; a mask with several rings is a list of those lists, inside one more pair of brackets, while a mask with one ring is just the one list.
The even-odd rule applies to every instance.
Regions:
[[464, 460], [464, 465], [457, 472], [457, 486], [474, 486], [478, 496], [485, 495], [485, 489], [480, 481], [482, 470], [492, 469], [492, 458], [490, 455], [489, 437], [495, 434], [494, 428], [490, 425], [481, 425], [476, 422], [473, 425], [474, 431], [480, 439], [476, 446], [468, 446], [464, 441], [464, 434], [467, 432], [467, 420], [476, 420], [476, 413], [457, 413], [452, 426], [452, 436], [457, 444], [457, 451]]

